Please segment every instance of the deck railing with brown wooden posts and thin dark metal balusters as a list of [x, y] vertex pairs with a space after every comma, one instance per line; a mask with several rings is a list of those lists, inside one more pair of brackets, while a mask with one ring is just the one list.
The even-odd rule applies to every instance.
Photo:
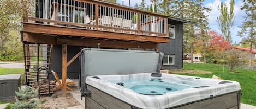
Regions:
[[[99, 0], [27, 0], [25, 21], [168, 37], [168, 16]], [[24, 21], [24, 20], [23, 20]]]

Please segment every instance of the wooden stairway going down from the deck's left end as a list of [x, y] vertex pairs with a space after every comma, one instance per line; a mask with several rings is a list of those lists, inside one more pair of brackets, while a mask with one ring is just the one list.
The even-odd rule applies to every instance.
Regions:
[[[49, 81], [52, 47], [51, 44], [23, 44], [25, 75], [28, 86], [36, 84], [41, 88], [38, 81]], [[50, 86], [49, 82], [46, 85]]]

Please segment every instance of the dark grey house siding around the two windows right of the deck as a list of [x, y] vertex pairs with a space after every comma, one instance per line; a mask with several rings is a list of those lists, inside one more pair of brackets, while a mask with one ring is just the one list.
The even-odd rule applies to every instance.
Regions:
[[163, 65], [162, 69], [180, 69], [183, 67], [183, 23], [171, 22], [169, 24], [175, 25], [175, 39], [170, 39], [169, 43], [158, 44], [159, 52], [164, 54], [175, 55], [175, 65]]

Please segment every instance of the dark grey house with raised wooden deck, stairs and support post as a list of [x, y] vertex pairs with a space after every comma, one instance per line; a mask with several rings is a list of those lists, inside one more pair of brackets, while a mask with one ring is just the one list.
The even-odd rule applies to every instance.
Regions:
[[165, 53], [163, 69], [182, 68], [183, 23], [193, 22], [100, 0], [26, 6], [21, 37], [28, 85], [55, 70], [65, 95], [65, 79], [78, 78], [82, 47], [156, 50]]

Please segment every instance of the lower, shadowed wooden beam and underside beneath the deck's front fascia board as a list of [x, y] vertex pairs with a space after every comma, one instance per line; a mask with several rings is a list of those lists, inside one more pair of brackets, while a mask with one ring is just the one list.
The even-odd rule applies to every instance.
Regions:
[[41, 44], [67, 44], [70, 46], [84, 46], [84, 47], [100, 47], [110, 48], [145, 48], [156, 49], [156, 43], [139, 43], [139, 42], [126, 42], [126, 41], [107, 41], [107, 40], [92, 40], [92, 39], [61, 39], [52, 35], [34, 34], [22, 32], [22, 41], [26, 43], [41, 43]]

